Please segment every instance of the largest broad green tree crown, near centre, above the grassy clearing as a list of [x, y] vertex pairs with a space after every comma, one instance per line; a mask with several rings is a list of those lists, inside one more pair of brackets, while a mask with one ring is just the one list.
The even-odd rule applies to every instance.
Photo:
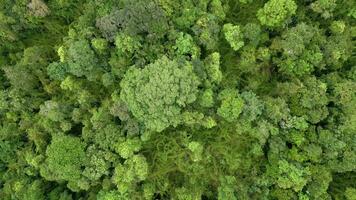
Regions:
[[179, 115], [197, 99], [199, 80], [187, 61], [162, 57], [144, 69], [131, 67], [120, 97], [147, 129], [161, 132], [180, 123]]

